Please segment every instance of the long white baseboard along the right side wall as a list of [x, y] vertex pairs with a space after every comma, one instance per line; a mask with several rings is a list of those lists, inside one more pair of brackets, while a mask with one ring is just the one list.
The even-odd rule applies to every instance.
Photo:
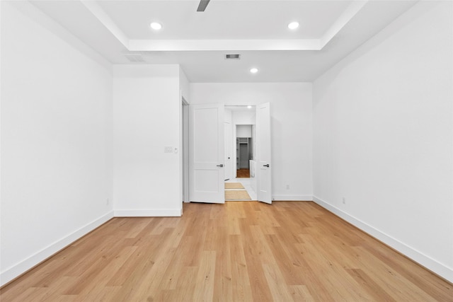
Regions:
[[373, 236], [374, 238], [377, 238], [377, 240], [382, 241], [382, 243], [385, 243], [386, 245], [389, 245], [391, 248], [394, 248], [395, 250], [397, 250], [398, 252], [401, 252], [401, 254], [406, 255], [406, 257], [417, 262], [418, 264], [422, 265], [423, 267], [430, 269], [432, 272], [434, 272], [435, 274], [438, 274], [440, 277], [443, 277], [443, 278], [447, 279], [448, 281], [453, 282], [453, 269], [452, 268], [449, 268], [446, 265], [443, 265], [442, 263], [437, 262], [437, 260], [434, 260], [431, 257], [424, 255], [422, 252], [419, 252], [418, 250], [411, 248], [410, 246], [406, 245], [405, 243], [403, 243], [399, 240], [396, 240], [395, 238], [387, 235], [386, 233], [384, 233], [382, 231], [379, 231], [377, 228], [370, 226], [369, 224], [365, 223], [364, 221], [361, 221], [360, 219], [357, 219], [354, 216], [351, 216], [350, 214], [346, 213], [345, 211], [342, 211], [342, 210], [338, 209], [337, 207], [334, 207], [333, 205], [329, 204], [328, 202], [324, 201], [321, 198], [314, 196], [313, 201], [316, 202], [316, 204], [319, 204], [324, 209], [327, 209], [328, 211], [331, 211], [333, 214], [336, 214], [337, 216], [344, 219], [345, 221], [348, 221], [353, 226], [360, 228], [362, 231], [364, 231], [365, 233], [368, 233], [370, 236]]

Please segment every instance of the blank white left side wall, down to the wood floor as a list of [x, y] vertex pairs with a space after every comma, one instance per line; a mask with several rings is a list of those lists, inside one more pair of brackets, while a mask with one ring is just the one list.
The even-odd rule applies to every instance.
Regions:
[[0, 285], [113, 216], [110, 71], [12, 5], [1, 1]]

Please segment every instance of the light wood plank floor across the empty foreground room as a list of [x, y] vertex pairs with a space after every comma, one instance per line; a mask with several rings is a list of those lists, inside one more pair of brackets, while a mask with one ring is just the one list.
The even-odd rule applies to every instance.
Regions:
[[0, 301], [453, 301], [453, 289], [313, 202], [226, 202], [112, 219]]

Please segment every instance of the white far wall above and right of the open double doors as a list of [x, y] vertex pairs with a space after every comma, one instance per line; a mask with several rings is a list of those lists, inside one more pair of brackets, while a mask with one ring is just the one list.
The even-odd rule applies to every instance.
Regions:
[[311, 83], [191, 83], [190, 100], [225, 105], [270, 102], [273, 197], [311, 200]]

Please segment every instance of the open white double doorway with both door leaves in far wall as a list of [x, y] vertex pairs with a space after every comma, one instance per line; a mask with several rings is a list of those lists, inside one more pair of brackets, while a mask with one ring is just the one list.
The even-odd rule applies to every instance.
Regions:
[[[270, 103], [256, 106], [224, 106], [223, 104], [196, 104], [189, 105], [189, 202], [224, 203], [226, 182], [240, 182], [243, 189], [250, 190], [251, 200], [272, 203], [271, 156], [270, 156]], [[238, 109], [239, 108], [239, 109]], [[237, 111], [237, 112], [235, 112]], [[230, 112], [230, 123], [227, 123], [227, 114]], [[232, 112], [235, 112], [234, 115]], [[234, 118], [233, 118], [234, 117]], [[251, 122], [250, 117], [253, 117]], [[224, 123], [224, 121], [226, 123]], [[234, 134], [225, 144], [224, 136], [226, 124], [231, 124]], [[254, 125], [251, 145], [253, 160], [249, 159], [250, 178], [236, 178], [236, 125]], [[254, 139], [256, 138], [256, 139]], [[225, 146], [231, 146], [231, 153], [227, 153]], [[256, 151], [256, 152], [255, 152]], [[225, 159], [229, 156], [232, 176], [225, 178]], [[226, 156], [226, 158], [224, 157]], [[226, 181], [225, 181], [226, 180]], [[242, 188], [239, 188], [241, 190]]]

